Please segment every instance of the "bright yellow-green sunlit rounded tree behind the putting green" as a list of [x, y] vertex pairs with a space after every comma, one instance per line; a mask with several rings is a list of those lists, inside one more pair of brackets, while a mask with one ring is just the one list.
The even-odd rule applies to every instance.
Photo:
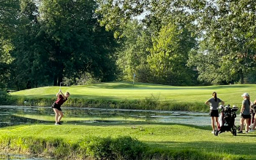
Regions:
[[171, 85], [192, 84], [192, 69], [186, 66], [188, 52], [195, 46], [195, 39], [186, 29], [169, 23], [153, 41], [148, 65], [155, 82]]

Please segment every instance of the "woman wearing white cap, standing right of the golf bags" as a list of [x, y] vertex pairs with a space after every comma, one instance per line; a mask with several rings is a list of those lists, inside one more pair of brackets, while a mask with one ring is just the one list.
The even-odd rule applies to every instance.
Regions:
[[249, 100], [249, 95], [248, 93], [244, 93], [243, 95], [241, 95], [242, 97], [244, 97], [244, 100], [242, 102], [242, 106], [241, 106], [241, 111], [240, 111], [240, 115], [241, 115], [241, 119], [240, 119], [240, 130], [238, 133], [243, 133], [243, 129], [244, 129], [244, 121], [245, 121], [245, 132], [248, 133], [249, 130], [249, 119], [251, 118], [251, 114], [249, 112], [250, 110], [250, 105], [251, 102]]

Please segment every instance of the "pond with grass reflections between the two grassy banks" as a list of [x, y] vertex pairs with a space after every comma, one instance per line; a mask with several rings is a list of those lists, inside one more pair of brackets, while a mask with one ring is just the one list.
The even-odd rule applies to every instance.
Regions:
[[[148, 111], [102, 108], [62, 108], [64, 124], [127, 123], [146, 121], [157, 123], [193, 124], [209, 126], [208, 113], [188, 111]], [[236, 124], [239, 119], [236, 118]], [[0, 127], [18, 124], [54, 124], [54, 113], [50, 107], [0, 106]]]

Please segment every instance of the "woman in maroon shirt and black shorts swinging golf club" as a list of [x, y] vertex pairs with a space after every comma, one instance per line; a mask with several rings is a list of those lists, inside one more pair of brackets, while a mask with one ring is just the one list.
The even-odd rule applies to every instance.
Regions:
[[61, 118], [63, 117], [63, 113], [61, 110], [61, 105], [67, 101], [67, 98], [69, 97], [69, 92], [66, 92], [65, 95], [61, 92], [61, 89], [59, 89], [59, 92], [57, 93], [58, 99], [53, 103], [52, 108], [55, 112], [55, 125], [61, 124]]

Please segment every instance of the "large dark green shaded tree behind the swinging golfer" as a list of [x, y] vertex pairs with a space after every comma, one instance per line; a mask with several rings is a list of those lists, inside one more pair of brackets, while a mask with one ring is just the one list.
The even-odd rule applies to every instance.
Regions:
[[39, 22], [54, 85], [64, 76], [78, 77], [80, 73], [91, 73], [103, 81], [112, 78], [115, 66], [110, 51], [115, 42], [97, 23], [96, 8], [93, 0], [42, 1]]

